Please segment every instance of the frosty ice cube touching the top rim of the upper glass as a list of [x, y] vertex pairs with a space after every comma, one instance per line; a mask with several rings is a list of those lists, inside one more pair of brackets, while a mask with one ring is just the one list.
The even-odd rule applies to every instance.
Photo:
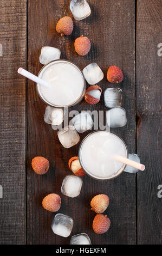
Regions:
[[46, 65], [55, 59], [60, 59], [61, 51], [58, 48], [43, 46], [40, 55], [40, 63]]

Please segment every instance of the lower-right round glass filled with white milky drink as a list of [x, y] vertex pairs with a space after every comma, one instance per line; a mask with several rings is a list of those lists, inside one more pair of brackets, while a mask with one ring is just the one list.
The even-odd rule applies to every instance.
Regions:
[[79, 149], [79, 160], [87, 174], [96, 179], [112, 179], [122, 173], [125, 164], [113, 159], [113, 155], [127, 157], [125, 143], [108, 131], [90, 133]]

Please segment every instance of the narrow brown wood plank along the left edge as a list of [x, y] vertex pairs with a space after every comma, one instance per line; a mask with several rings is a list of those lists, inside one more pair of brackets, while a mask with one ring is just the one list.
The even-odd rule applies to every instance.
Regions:
[[26, 2], [0, 1], [1, 244], [25, 243], [25, 79], [17, 74], [17, 69], [25, 67]]

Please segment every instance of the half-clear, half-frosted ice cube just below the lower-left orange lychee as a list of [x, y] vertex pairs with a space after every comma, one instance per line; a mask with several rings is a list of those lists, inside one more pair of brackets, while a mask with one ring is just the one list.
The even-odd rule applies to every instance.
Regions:
[[64, 214], [56, 214], [51, 229], [56, 235], [68, 237], [73, 229], [73, 219]]

